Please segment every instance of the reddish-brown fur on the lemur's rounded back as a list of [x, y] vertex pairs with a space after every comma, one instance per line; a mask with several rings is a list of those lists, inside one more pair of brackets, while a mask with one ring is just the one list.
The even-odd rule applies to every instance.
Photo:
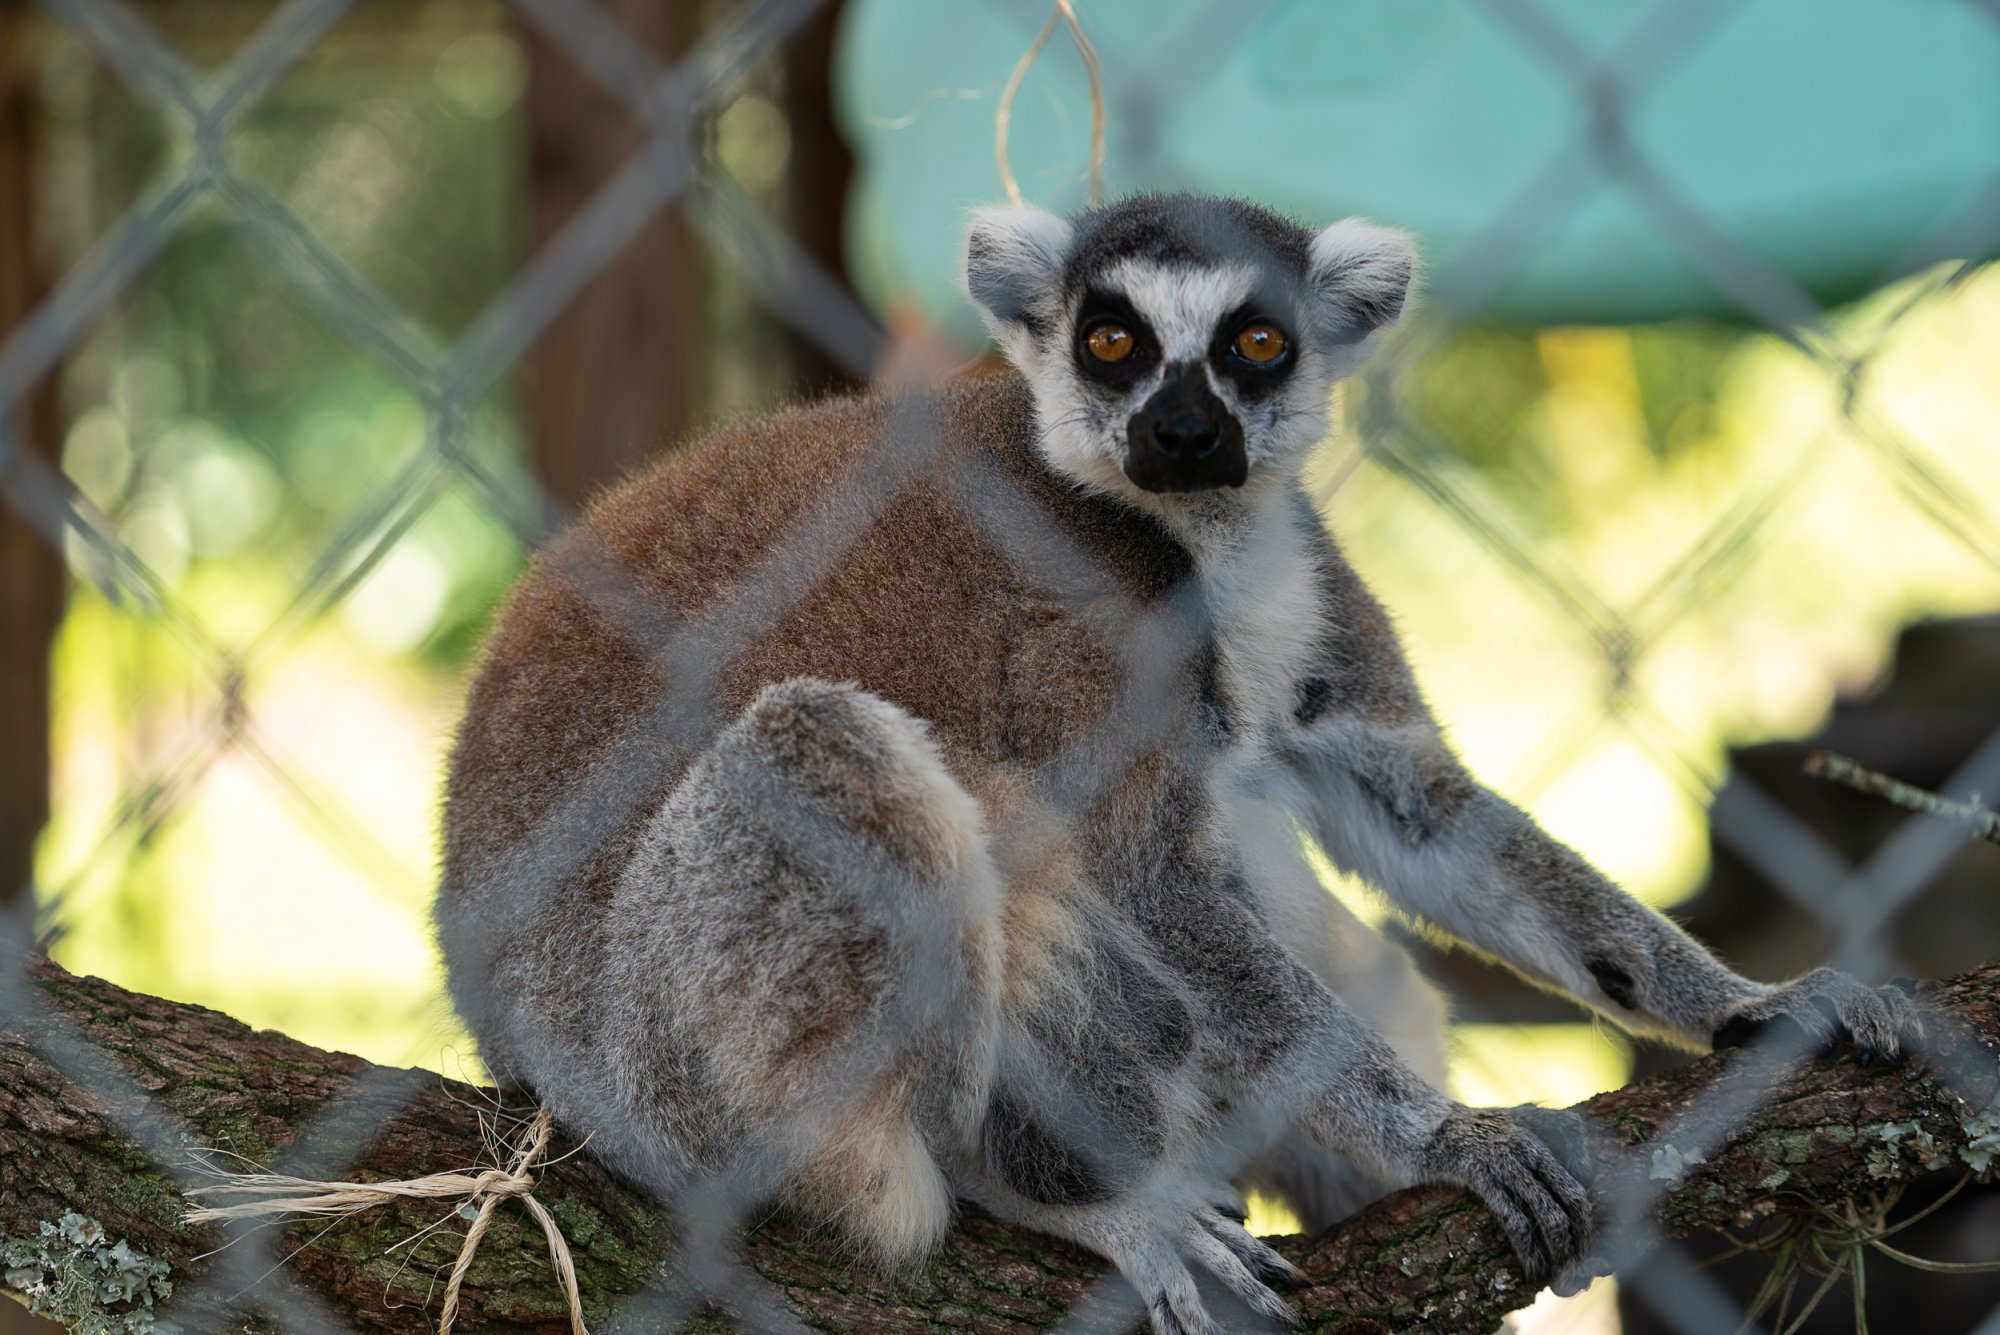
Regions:
[[[918, 432], [914, 444], [934, 454], [866, 522], [878, 452], [896, 446], [896, 432]], [[808, 556], [824, 572], [808, 568], [790, 610], [720, 666], [710, 731], [764, 685], [816, 675], [854, 681], [928, 719], [972, 791], [994, 787], [992, 765], [1058, 751], [1108, 705], [1112, 662], [1100, 636], [954, 504], [964, 470], [1002, 472], [1018, 488], [1008, 504], [1026, 500], [1136, 606], [1174, 588], [1190, 560], [1146, 516], [1054, 478], [1032, 434], [1032, 400], [1014, 374], [954, 386], [928, 404], [832, 400], [722, 432], [594, 504], [514, 594], [472, 687], [452, 755], [442, 893], [476, 893], [638, 731], [670, 687], [650, 662], [660, 642], [678, 632], [706, 650], [706, 618], [752, 588], [746, 578], [786, 534], [830, 514], [862, 514], [858, 540], [830, 560]], [[622, 791], [570, 893], [602, 901], [638, 821], [698, 745], [660, 747], [642, 775], [612, 783]]]

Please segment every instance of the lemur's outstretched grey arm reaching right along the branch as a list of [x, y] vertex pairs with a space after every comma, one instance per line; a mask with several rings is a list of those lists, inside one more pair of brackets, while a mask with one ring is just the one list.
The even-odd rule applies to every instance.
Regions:
[[1292, 763], [1306, 787], [1304, 819], [1336, 865], [1638, 1033], [1706, 1047], [1742, 1041], [1786, 1013], [1816, 1039], [1852, 1035], [1860, 1051], [1884, 1057], [1920, 1033], [1900, 993], [1832, 969], [1792, 987], [1742, 977], [1472, 779], [1426, 709], [1380, 604], [1324, 536], [1318, 560], [1328, 630], [1320, 669], [1298, 691]]

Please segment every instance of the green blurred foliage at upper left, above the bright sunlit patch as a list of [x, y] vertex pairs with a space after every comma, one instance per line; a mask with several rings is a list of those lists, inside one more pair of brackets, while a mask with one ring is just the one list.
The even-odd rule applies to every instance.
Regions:
[[[480, 10], [452, 14], [426, 26], [360, 6], [230, 140], [248, 182], [436, 342], [460, 334], [512, 278], [524, 226], [522, 52], [496, 26], [498, 10], [470, 32]], [[202, 62], [240, 34], [188, 24], [170, 36], [190, 40]], [[70, 224], [64, 260], [74, 260], [78, 242], [102, 236], [180, 150], [164, 138], [170, 126], [134, 106], [66, 32], [48, 28], [42, 68], [52, 210]], [[92, 332], [68, 392], [78, 424], [66, 470], [168, 584], [250, 556], [260, 570], [292, 572], [294, 586], [324, 580], [312, 566], [338, 544], [366, 548], [390, 524], [414, 524], [402, 550], [426, 552], [432, 570], [404, 562], [404, 608], [386, 638], [448, 668], [464, 664], [518, 572], [518, 544], [466, 506], [408, 514], [418, 498], [398, 490], [422, 486], [432, 444], [420, 394], [212, 210]], [[506, 392], [476, 414], [466, 448], [502, 478], [522, 478]], [[266, 588], [216, 616], [256, 634], [290, 592]]]

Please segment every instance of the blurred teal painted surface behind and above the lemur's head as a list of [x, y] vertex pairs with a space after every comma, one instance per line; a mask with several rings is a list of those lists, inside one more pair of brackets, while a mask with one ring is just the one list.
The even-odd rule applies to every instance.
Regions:
[[[1080, 0], [1114, 192], [1240, 194], [1420, 234], [1432, 302], [1536, 324], [1786, 318], [2000, 250], [2000, 20], [1958, 0]], [[854, 268], [972, 332], [964, 210], [1002, 198], [998, 90], [1038, 0], [852, 0]], [[1682, 24], [1696, 32], [1682, 34]], [[1618, 130], [1548, 46], [1628, 88]], [[1024, 194], [1084, 200], [1058, 32], [1014, 110]], [[1622, 158], [1620, 142], [1630, 146]]]

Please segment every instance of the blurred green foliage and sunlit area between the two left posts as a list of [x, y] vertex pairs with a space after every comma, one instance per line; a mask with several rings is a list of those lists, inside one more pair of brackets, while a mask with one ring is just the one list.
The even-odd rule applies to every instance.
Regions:
[[[248, 28], [196, 8], [166, 34], [212, 66]], [[230, 140], [244, 180], [440, 346], [522, 260], [526, 70], [502, 24], [358, 6]], [[68, 268], [186, 144], [76, 38], [42, 36]], [[496, 504], [530, 490], [512, 388], [452, 442], [494, 480], [468, 486], [420, 390], [204, 206], [90, 330], [64, 394], [64, 468], [160, 600], [72, 542], [42, 849], [66, 959], [436, 1063], [456, 1035], [428, 931], [438, 755], [524, 556]]]

